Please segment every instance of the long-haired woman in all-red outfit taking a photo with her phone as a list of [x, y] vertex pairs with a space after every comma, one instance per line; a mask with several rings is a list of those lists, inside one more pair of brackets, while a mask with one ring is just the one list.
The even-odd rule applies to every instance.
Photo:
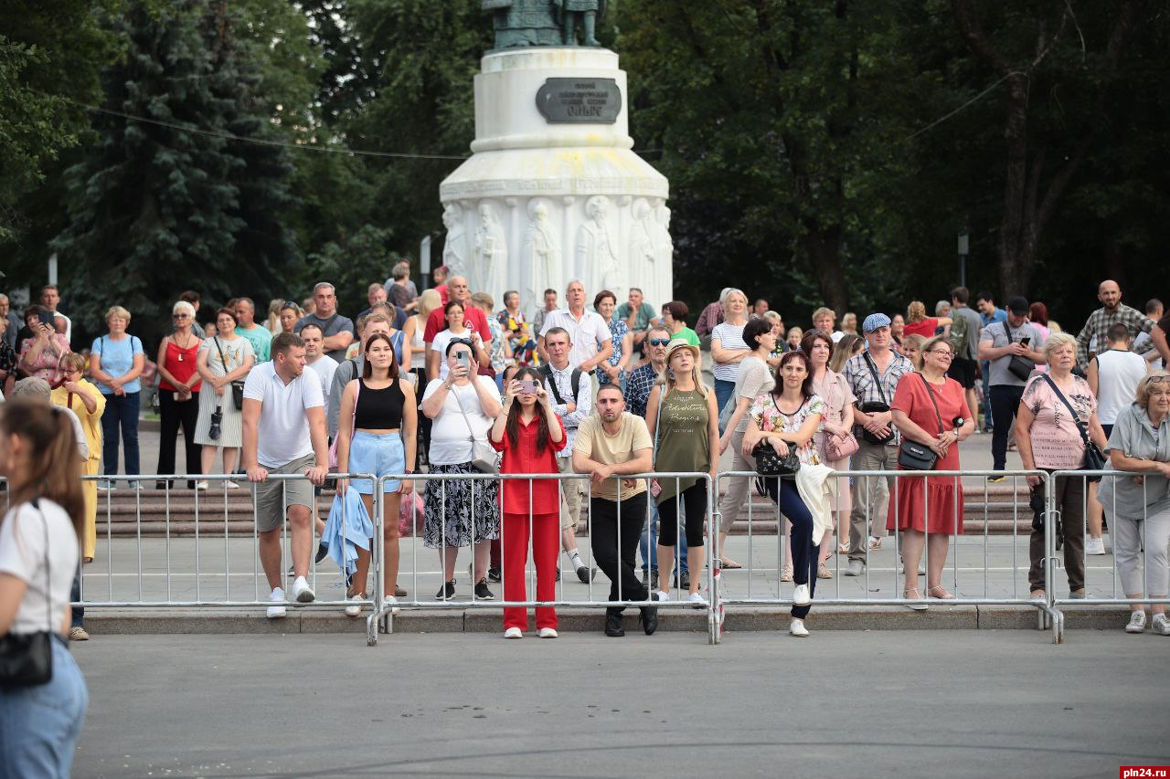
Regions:
[[[539, 371], [524, 367], [504, 385], [503, 413], [496, 416], [489, 440], [503, 453], [501, 474], [548, 474], [556, 476], [557, 453], [569, 439], [565, 426], [552, 411]], [[532, 563], [536, 564], [536, 600], [556, 600], [557, 556], [560, 553], [560, 492], [556, 478], [504, 480], [503, 545], [504, 600], [526, 600], [524, 567], [531, 530]], [[536, 609], [542, 639], [557, 637], [557, 611]], [[504, 637], [522, 639], [528, 628], [524, 608], [504, 609]]]

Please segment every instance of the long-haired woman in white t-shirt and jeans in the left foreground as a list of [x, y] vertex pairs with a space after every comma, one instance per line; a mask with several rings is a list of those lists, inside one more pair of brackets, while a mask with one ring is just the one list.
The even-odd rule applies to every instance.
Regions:
[[68, 777], [89, 702], [69, 654], [69, 591], [84, 513], [73, 422], [61, 408], [20, 399], [0, 409], [0, 475], [12, 509], [0, 522], [0, 636], [49, 633], [47, 682], [0, 695], [5, 775]]

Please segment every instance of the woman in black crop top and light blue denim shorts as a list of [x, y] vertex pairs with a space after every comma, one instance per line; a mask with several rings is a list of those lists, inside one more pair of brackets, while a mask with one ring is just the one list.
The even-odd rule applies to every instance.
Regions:
[[[337, 426], [337, 468], [339, 473], [390, 476], [413, 474], [418, 439], [418, 402], [414, 387], [399, 377], [394, 346], [390, 337], [374, 333], [365, 344], [365, 367], [362, 378], [345, 385], [342, 395], [340, 419]], [[355, 489], [362, 495], [366, 511], [373, 517], [373, 481], [340, 480], [338, 490]], [[410, 481], [383, 482], [383, 540], [386, 568], [384, 571], [386, 600], [394, 600], [398, 580], [398, 516], [402, 492], [411, 492]], [[370, 545], [373, 549], [373, 544]], [[358, 549], [357, 572], [346, 598], [366, 600], [366, 580], [370, 573], [370, 551]], [[394, 613], [398, 609], [394, 608]], [[358, 616], [362, 606], [345, 607], [345, 614]]]

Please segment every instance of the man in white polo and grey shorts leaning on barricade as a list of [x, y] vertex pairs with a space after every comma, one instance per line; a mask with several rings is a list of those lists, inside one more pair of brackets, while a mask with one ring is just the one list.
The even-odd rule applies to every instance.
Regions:
[[[256, 495], [260, 564], [271, 587], [268, 616], [284, 616], [281, 587], [281, 528], [288, 513], [292, 533], [292, 599], [316, 598], [305, 574], [312, 544], [314, 485], [329, 473], [325, 398], [321, 380], [304, 373], [304, 342], [281, 333], [273, 338], [271, 360], [252, 370], [243, 384], [243, 467]], [[277, 474], [304, 474], [305, 480], [275, 480]]]

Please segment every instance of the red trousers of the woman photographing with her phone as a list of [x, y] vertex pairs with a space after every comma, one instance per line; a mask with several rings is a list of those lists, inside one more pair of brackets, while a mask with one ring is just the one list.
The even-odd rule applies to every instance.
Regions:
[[[501, 543], [504, 554], [504, 600], [528, 600], [524, 566], [528, 564], [529, 526], [532, 530], [532, 561], [536, 564], [536, 600], [557, 599], [557, 556], [560, 553], [560, 513], [504, 513]], [[504, 629], [528, 629], [528, 609], [504, 608]], [[539, 606], [536, 627], [557, 627], [557, 609]]]

